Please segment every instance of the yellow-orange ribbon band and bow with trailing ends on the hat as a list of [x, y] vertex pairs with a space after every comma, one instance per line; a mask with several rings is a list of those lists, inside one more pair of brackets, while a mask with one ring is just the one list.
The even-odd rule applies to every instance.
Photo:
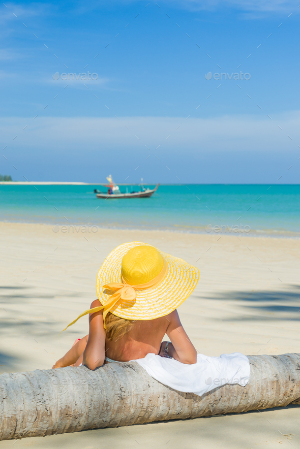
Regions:
[[[119, 300], [123, 301], [134, 301], [136, 298], [136, 290], [145, 290], [146, 288], [152, 288], [158, 285], [163, 278], [165, 277], [166, 273], [168, 271], [168, 265], [166, 261], [164, 260], [164, 266], [162, 271], [159, 273], [158, 276], [156, 276], [154, 279], [152, 279], [149, 282], [146, 282], [144, 284], [140, 285], [129, 285], [122, 276], [122, 282], [111, 282], [109, 284], [103, 285], [104, 290], [114, 292], [111, 294], [109, 301], [104, 306], [94, 307], [93, 309], [85, 310], [85, 312], [81, 313], [72, 323], [70, 323], [63, 331], [68, 329], [69, 326], [72, 326], [76, 321], [81, 318], [84, 315], [87, 315], [88, 313], [96, 313], [100, 310], [103, 310], [103, 326], [104, 329], [106, 329], [105, 326], [105, 317], [108, 312], [119, 302]], [[100, 302], [100, 300], [99, 300]], [[62, 331], [62, 332], [63, 332]]]

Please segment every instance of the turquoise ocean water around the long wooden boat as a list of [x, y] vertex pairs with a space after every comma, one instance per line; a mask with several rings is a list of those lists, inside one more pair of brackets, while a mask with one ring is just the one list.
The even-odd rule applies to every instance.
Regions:
[[300, 185], [160, 185], [151, 198], [128, 200], [97, 199], [94, 188], [106, 191], [96, 184], [0, 185], [0, 221], [300, 236]]

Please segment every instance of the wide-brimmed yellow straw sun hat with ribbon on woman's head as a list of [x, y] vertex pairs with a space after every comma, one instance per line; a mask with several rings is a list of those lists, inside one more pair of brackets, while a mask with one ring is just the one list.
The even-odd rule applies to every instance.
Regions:
[[124, 243], [98, 271], [96, 293], [102, 306], [81, 313], [69, 326], [102, 309], [104, 327], [108, 312], [131, 320], [165, 316], [191, 295], [198, 280], [198, 268], [184, 260], [142, 242]]

